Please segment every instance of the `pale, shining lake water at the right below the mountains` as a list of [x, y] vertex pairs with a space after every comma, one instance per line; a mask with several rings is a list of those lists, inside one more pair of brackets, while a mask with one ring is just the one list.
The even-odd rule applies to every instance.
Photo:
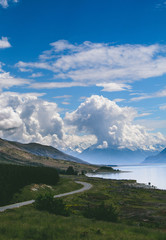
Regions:
[[135, 166], [118, 166], [122, 172], [117, 173], [88, 173], [88, 177], [100, 177], [105, 179], [127, 179], [137, 180], [138, 183], [148, 184], [159, 189], [166, 190], [166, 164], [165, 165], [135, 165]]

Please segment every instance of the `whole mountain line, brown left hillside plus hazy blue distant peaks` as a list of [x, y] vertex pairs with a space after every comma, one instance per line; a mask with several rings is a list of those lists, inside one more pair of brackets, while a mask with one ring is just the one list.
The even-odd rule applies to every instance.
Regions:
[[140, 163], [166, 163], [166, 148], [159, 153], [157, 151], [90, 147], [74, 157], [52, 146], [39, 143], [23, 144], [0, 139], [0, 162], [52, 167], [61, 166], [62, 168], [65, 168], [64, 166], [67, 162], [68, 164], [77, 163], [85, 164], [86, 166], [88, 164], [133, 165]]

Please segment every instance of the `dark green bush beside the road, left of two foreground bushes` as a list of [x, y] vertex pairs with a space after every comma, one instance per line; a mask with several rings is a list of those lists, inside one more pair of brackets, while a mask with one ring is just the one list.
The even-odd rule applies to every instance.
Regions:
[[51, 193], [39, 195], [34, 203], [36, 209], [41, 211], [48, 211], [49, 213], [69, 216], [70, 211], [66, 208], [62, 199], [54, 198]]

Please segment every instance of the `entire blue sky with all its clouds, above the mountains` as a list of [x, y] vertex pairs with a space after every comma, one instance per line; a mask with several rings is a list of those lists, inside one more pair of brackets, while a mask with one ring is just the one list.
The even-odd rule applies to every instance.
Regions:
[[166, 1], [0, 0], [0, 137], [166, 146]]

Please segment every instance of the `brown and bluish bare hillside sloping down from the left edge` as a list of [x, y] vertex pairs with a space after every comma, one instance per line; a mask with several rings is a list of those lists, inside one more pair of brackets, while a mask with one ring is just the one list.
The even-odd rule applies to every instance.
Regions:
[[21, 165], [50, 166], [66, 170], [96, 169], [79, 158], [65, 154], [56, 148], [37, 143], [22, 144], [0, 139], [0, 162]]

